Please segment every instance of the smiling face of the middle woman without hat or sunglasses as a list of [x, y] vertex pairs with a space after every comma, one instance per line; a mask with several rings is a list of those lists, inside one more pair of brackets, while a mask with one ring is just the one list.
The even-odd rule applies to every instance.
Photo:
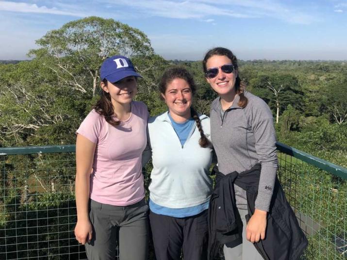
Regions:
[[186, 80], [176, 78], [166, 84], [165, 93], [161, 94], [176, 122], [184, 122], [191, 117], [192, 89]]

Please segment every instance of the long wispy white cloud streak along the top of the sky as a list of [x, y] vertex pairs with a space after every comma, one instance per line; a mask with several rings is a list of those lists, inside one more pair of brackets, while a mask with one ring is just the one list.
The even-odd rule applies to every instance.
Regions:
[[[223, 4], [217, 4], [215, 0], [75, 0], [73, 3], [58, 0], [54, 2], [54, 7], [50, 6], [50, 3], [53, 2], [50, 0], [34, 0], [33, 2], [0, 0], [0, 11], [84, 17], [95, 13], [93, 12], [95, 8], [92, 6], [103, 6], [107, 7], [103, 14], [113, 17], [118, 9], [116, 16], [119, 18], [126, 15], [128, 19], [132, 16], [159, 16], [176, 19], [197, 19], [212, 23], [215, 22], [215, 19], [211, 16], [271, 17], [297, 24], [310, 24], [317, 20], [312, 14], [304, 13], [295, 6], [288, 7], [279, 0], [224, 0]], [[344, 3], [339, 5], [344, 5]], [[124, 13], [124, 10], [119, 12], [117, 7], [125, 7], [128, 12]], [[336, 9], [340, 9], [340, 7], [336, 7]], [[113, 10], [112, 13], [110, 10]]]

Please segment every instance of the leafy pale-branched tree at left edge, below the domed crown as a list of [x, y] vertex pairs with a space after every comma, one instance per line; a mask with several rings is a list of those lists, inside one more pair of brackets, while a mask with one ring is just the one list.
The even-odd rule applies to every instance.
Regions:
[[71, 142], [87, 99], [58, 88], [39, 60], [7, 66], [0, 72], [0, 145]]

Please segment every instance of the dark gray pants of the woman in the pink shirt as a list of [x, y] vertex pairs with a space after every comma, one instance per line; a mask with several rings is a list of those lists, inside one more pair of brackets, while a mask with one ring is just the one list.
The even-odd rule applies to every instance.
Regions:
[[90, 200], [93, 238], [85, 244], [88, 259], [115, 260], [118, 244], [119, 260], [147, 260], [148, 210], [144, 199], [125, 207]]

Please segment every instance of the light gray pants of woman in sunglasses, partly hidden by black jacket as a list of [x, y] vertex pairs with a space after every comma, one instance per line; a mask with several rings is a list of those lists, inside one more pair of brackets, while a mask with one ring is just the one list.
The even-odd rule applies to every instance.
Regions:
[[248, 214], [248, 211], [241, 209], [238, 209], [238, 211], [243, 224], [242, 244], [236, 245], [232, 248], [224, 245], [223, 251], [225, 260], [263, 260], [263, 257], [258, 253], [257, 249], [247, 240], [246, 237], [247, 223], [245, 216]]

